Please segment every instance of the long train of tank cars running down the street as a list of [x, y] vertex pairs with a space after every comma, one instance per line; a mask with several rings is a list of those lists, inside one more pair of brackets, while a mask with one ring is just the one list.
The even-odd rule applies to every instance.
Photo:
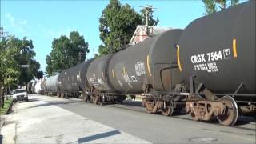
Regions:
[[233, 126], [238, 114], [256, 114], [255, 74], [255, 1], [249, 1], [63, 70], [42, 80], [40, 93], [82, 95], [95, 104], [141, 94], [152, 114], [185, 108], [194, 120]]

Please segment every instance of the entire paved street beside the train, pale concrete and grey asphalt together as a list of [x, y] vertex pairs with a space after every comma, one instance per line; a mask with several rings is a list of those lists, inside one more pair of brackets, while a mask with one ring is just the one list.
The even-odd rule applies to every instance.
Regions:
[[3, 143], [255, 143], [255, 122], [227, 127], [187, 116], [147, 114], [133, 106], [95, 106], [78, 99], [30, 95], [14, 105]]

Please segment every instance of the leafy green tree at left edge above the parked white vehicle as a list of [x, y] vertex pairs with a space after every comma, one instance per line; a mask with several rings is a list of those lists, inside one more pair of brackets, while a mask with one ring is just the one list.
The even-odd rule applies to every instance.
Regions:
[[[1, 42], [1, 75], [4, 86], [24, 86], [34, 77], [40, 78], [40, 64], [35, 56], [33, 42], [26, 37], [23, 39], [9, 38]], [[22, 68], [21, 65], [29, 65]], [[0, 75], [0, 76], [1, 76]]]

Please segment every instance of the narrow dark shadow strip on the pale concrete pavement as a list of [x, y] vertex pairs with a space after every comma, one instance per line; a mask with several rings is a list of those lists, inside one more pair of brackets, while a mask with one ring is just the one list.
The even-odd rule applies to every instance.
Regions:
[[113, 136], [116, 134], [121, 134], [121, 132], [119, 130], [113, 130], [113, 131], [109, 131], [109, 132], [102, 133], [102, 134], [91, 135], [89, 137], [78, 138], [78, 143], [90, 142], [90, 141], [94, 141], [96, 139], [106, 138], [106, 137], [110, 137], [110, 136]]

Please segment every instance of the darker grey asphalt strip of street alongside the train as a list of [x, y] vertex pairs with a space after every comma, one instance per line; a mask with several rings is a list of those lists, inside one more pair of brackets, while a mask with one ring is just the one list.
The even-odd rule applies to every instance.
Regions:
[[49, 103], [154, 143], [255, 143], [256, 125], [250, 121], [240, 120], [238, 126], [234, 127], [195, 122], [187, 115], [172, 118], [148, 114], [136, 102], [126, 102], [122, 106], [97, 106], [77, 99], [67, 99], [64, 103]]

